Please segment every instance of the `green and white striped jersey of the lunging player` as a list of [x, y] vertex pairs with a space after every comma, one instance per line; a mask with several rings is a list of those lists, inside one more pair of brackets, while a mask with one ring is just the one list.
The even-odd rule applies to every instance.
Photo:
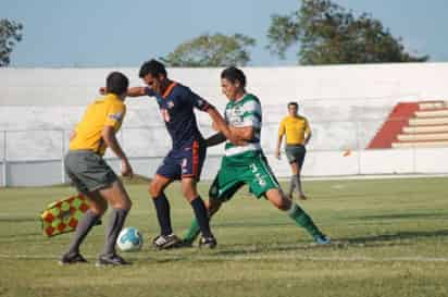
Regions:
[[225, 107], [225, 121], [234, 127], [254, 128], [253, 139], [247, 146], [235, 146], [231, 141], [225, 144], [225, 156], [235, 156], [248, 151], [260, 151], [260, 133], [262, 123], [260, 100], [251, 94], [241, 99], [229, 101]]

